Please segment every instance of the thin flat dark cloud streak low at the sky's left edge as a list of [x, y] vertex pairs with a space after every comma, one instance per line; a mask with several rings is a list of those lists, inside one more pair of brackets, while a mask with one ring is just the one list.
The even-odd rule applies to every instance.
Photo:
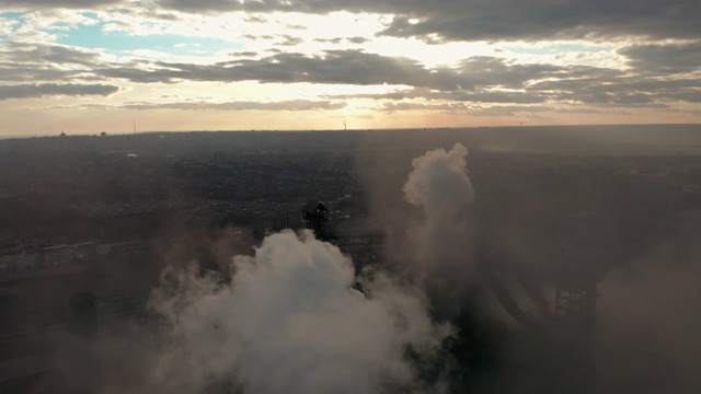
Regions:
[[106, 84], [37, 83], [0, 85], [0, 101], [8, 99], [30, 99], [53, 95], [101, 95], [119, 91], [119, 86]]

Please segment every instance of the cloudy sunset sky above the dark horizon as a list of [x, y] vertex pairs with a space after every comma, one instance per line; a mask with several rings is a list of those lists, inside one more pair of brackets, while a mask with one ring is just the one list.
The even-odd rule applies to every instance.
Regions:
[[701, 123], [698, 0], [0, 0], [0, 136]]

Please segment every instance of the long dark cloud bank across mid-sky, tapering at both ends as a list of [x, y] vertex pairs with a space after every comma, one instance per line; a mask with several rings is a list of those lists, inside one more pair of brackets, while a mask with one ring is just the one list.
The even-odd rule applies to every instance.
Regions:
[[[239, 59], [216, 65], [134, 63], [131, 67], [110, 67], [97, 69], [95, 72], [106, 78], [142, 83], [191, 80], [397, 84], [455, 92], [472, 91], [479, 86], [520, 89], [529, 81], [542, 78], [612, 73], [611, 70], [594, 67], [518, 65], [492, 57], [471, 57], [457, 67], [428, 69], [413, 59], [360, 50], [326, 50], [323, 56], [287, 53], [262, 59]], [[494, 96], [495, 100], [503, 97], [504, 95]]]

